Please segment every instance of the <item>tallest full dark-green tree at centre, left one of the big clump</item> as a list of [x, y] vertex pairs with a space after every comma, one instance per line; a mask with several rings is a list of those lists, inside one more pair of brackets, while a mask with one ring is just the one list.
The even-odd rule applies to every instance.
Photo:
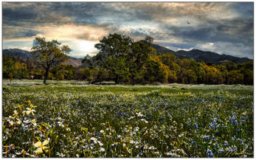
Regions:
[[108, 35], [100, 40], [100, 44], [95, 44], [99, 50], [97, 59], [100, 59], [100, 67], [109, 72], [115, 83], [127, 81], [128, 60], [127, 56], [131, 52], [133, 40], [125, 35]]

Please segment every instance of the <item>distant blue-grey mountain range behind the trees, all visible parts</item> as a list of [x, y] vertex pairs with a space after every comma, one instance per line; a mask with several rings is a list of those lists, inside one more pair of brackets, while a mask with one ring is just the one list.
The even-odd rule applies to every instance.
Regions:
[[[173, 55], [176, 55], [177, 58], [180, 59], [194, 59], [196, 61], [204, 61], [204, 63], [221, 63], [225, 60], [231, 60], [235, 63], [243, 63], [248, 60], [252, 60], [249, 58], [238, 58], [232, 55], [220, 55], [215, 52], [205, 52], [201, 51], [199, 49], [192, 49], [190, 51], [184, 51], [179, 50], [177, 52], [167, 49], [164, 46], [159, 46], [158, 44], [153, 44], [152, 47], [156, 49], [157, 53], [161, 54], [168, 54], [172, 53]], [[2, 50], [3, 55], [12, 56], [18, 59], [24, 59], [27, 60], [27, 58], [32, 58], [31, 52], [28, 52], [23, 49], [3, 49]], [[69, 60], [66, 60], [65, 64], [72, 65], [77, 67], [86, 66], [86, 64], [82, 63], [83, 58], [74, 58], [72, 56], [69, 56]]]

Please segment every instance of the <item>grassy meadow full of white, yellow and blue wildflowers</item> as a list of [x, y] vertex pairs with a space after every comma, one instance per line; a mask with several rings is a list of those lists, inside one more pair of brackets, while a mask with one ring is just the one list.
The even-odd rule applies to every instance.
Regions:
[[3, 80], [3, 157], [253, 157], [253, 86]]

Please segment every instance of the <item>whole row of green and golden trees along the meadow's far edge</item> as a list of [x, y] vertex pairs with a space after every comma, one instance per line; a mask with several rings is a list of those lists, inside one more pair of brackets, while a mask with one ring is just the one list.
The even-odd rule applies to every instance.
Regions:
[[84, 68], [61, 64], [71, 51], [58, 41], [47, 42], [35, 38], [32, 60], [3, 57], [3, 77], [52, 80], [87, 80], [91, 83], [114, 81], [115, 83], [184, 83], [184, 84], [245, 84], [253, 85], [253, 60], [233, 63], [224, 60], [220, 64], [179, 59], [172, 53], [157, 53], [153, 38], [134, 41], [129, 36], [109, 34], [99, 44], [97, 55], [86, 55]]

